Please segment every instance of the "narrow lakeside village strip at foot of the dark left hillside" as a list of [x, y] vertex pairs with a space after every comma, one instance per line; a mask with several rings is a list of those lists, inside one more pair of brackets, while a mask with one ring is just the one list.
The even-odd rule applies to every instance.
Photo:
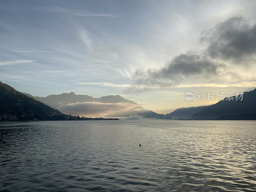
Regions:
[[53, 115], [34, 116], [33, 114], [17, 116], [16, 114], [0, 114], [0, 121], [81, 121], [81, 120], [119, 120], [118, 118], [102, 118], [102, 117], [79, 117], [66, 115], [63, 113], [55, 113]]

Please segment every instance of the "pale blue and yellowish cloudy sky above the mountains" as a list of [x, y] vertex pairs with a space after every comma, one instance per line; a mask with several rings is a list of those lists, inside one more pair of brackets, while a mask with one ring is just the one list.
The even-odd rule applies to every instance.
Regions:
[[[0, 81], [121, 95], [170, 113], [184, 93], [256, 87], [256, 1], [0, 1]], [[196, 96], [195, 96], [196, 97]]]

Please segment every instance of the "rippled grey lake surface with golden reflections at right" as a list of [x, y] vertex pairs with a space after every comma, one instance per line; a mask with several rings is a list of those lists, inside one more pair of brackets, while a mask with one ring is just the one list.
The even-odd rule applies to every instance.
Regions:
[[256, 121], [0, 123], [0, 191], [256, 191]]

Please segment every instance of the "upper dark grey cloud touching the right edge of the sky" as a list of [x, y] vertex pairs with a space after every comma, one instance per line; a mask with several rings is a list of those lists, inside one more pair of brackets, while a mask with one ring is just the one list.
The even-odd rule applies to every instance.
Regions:
[[211, 58], [241, 61], [256, 53], [256, 25], [243, 17], [232, 17], [217, 24], [202, 38], [209, 43]]

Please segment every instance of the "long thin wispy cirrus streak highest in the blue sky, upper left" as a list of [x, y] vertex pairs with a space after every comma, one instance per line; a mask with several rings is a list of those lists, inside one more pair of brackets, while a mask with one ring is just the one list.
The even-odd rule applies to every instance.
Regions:
[[35, 11], [49, 11], [49, 12], [57, 12], [57, 13], [65, 13], [76, 16], [85, 16], [85, 17], [118, 17], [114, 14], [109, 13], [98, 13], [98, 12], [90, 12], [81, 9], [68, 9], [65, 7], [34, 7]]

